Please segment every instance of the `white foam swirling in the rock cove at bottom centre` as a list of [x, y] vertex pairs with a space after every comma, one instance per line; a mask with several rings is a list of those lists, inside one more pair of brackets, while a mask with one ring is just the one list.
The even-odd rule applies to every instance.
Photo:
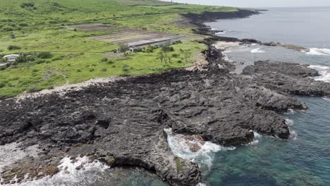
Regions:
[[[196, 140], [188, 141], [185, 140], [184, 135], [173, 135], [171, 130], [165, 131], [168, 134], [167, 141], [169, 142], [169, 147], [173, 154], [182, 159], [189, 159], [202, 166], [207, 166], [207, 168], [211, 168], [216, 152], [236, 149], [236, 147], [221, 147], [212, 142], [204, 142], [204, 144], [202, 144], [202, 142]], [[188, 144], [197, 144], [200, 150], [193, 152], [190, 150]]]

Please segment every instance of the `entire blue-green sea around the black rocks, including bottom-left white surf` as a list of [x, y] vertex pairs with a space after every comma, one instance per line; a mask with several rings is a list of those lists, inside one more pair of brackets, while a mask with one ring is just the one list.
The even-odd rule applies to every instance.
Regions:
[[[254, 61], [270, 59], [310, 64], [322, 73], [317, 80], [330, 83], [330, 8], [269, 8], [250, 18], [219, 20], [207, 25], [225, 37], [253, 38], [310, 49], [304, 53], [277, 46], [228, 47], [226, 58], [242, 64], [236, 73]], [[292, 133], [288, 140], [255, 134], [255, 141], [249, 145], [224, 148], [206, 143], [198, 153], [191, 154], [181, 144], [180, 137], [170, 136], [170, 147], [174, 154], [200, 164], [203, 171], [201, 185], [330, 185], [330, 99], [298, 99], [310, 108], [283, 114]], [[0, 169], [1, 163], [14, 161], [11, 149], [15, 149], [14, 144], [0, 151]], [[16, 158], [24, 153], [17, 149]], [[85, 161], [80, 159], [79, 162]], [[66, 160], [62, 164], [72, 170], [70, 174], [61, 171], [54, 178], [27, 182], [26, 185], [167, 185], [141, 168], [109, 169], [101, 163], [92, 163], [81, 172]]]

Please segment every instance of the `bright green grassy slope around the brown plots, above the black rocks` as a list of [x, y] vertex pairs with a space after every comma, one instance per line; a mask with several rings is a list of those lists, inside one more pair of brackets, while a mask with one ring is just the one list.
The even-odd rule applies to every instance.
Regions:
[[[191, 66], [204, 49], [195, 42], [200, 36], [180, 14], [203, 11], [236, 11], [236, 8], [171, 4], [154, 0], [1, 0], [0, 55], [51, 53], [49, 58], [35, 57], [25, 63], [13, 63], [0, 71], [0, 97], [13, 97], [94, 77], [157, 73], [169, 68]], [[159, 49], [129, 56], [114, 54], [118, 45], [88, 39], [108, 32], [74, 30], [68, 25], [104, 23], [131, 28], [146, 28], [185, 35], [174, 46], [173, 60], [163, 66]], [[15, 39], [11, 39], [11, 35]], [[11, 47], [9, 47], [11, 46]], [[15, 47], [13, 47], [15, 46]], [[190, 52], [186, 62], [180, 54]], [[111, 63], [104, 58], [110, 58]]]

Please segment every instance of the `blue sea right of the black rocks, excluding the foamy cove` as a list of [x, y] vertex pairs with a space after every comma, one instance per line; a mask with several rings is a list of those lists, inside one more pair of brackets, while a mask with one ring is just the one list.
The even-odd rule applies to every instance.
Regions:
[[[274, 46], [233, 46], [228, 60], [241, 63], [237, 73], [257, 60], [307, 63], [319, 70], [317, 78], [330, 83], [330, 8], [270, 8], [243, 19], [207, 25], [217, 35], [304, 46], [301, 52]], [[259, 142], [216, 153], [207, 185], [330, 185], [330, 99], [298, 97], [307, 111], [285, 114], [293, 137]]]

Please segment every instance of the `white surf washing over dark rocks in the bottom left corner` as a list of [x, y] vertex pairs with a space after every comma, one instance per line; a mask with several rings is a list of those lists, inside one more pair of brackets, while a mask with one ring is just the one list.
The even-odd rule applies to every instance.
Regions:
[[[24, 150], [20, 149], [19, 144], [16, 143], [0, 146], [0, 172], [5, 166], [10, 166], [12, 163], [24, 159], [26, 156], [37, 157], [38, 153], [39, 149], [37, 149], [37, 146], [28, 147]], [[76, 159], [66, 157], [61, 160], [58, 168], [59, 173], [56, 173], [52, 177], [47, 176], [39, 180], [25, 178], [20, 183], [4, 184], [4, 186], [91, 185], [110, 167], [99, 161], [91, 161], [87, 156], [83, 156]]]

